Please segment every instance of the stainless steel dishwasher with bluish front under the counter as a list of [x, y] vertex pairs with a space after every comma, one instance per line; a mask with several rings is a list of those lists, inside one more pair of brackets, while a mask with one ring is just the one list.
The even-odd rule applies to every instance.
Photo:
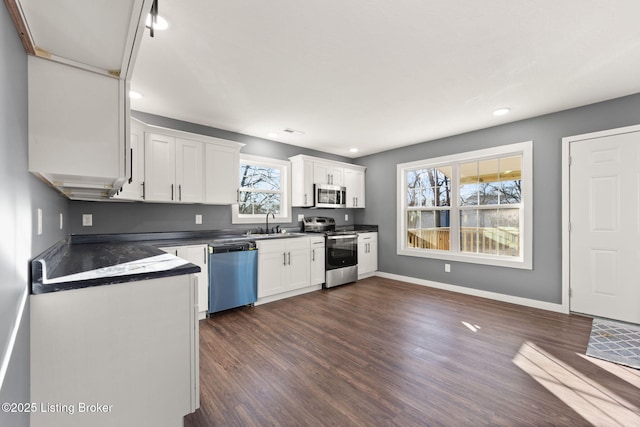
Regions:
[[258, 299], [258, 251], [253, 242], [209, 245], [209, 313]]

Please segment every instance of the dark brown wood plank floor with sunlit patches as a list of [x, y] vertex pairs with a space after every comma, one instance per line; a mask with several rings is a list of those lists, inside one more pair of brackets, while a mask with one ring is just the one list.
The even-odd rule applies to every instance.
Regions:
[[185, 426], [640, 425], [639, 371], [581, 356], [590, 328], [378, 277], [217, 313]]

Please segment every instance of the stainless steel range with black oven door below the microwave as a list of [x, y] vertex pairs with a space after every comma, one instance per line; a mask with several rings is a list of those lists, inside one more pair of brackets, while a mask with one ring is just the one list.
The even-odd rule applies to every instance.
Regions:
[[325, 235], [325, 288], [358, 279], [358, 235], [354, 231], [336, 231], [336, 221], [323, 216], [305, 218], [303, 230]]

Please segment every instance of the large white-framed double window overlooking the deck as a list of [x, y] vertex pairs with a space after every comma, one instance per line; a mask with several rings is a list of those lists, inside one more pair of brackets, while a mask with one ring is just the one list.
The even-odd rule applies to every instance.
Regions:
[[532, 268], [532, 142], [398, 165], [398, 254]]

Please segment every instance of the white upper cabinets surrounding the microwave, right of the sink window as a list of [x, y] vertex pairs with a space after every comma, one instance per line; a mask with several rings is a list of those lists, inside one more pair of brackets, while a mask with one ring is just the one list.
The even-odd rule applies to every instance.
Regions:
[[303, 154], [289, 157], [289, 160], [292, 206], [312, 207], [314, 185], [332, 184], [346, 187], [348, 208], [365, 207], [365, 167]]

